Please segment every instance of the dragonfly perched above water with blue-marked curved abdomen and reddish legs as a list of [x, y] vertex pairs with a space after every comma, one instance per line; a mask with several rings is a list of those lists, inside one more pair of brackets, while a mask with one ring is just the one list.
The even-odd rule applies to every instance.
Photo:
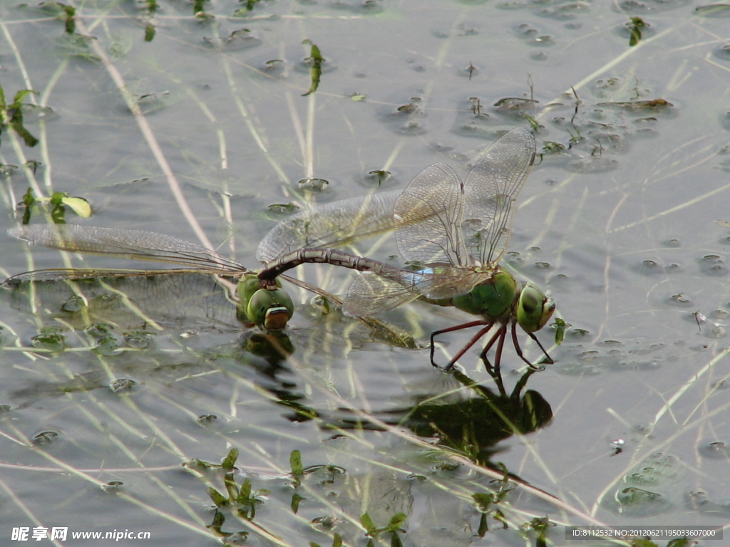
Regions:
[[[547, 362], [550, 355], [534, 334], [544, 327], [556, 304], [536, 285], [518, 284], [499, 267], [512, 232], [516, 200], [535, 159], [534, 137], [515, 128], [497, 140], [476, 161], [464, 181], [453, 168], [434, 163], [401, 192], [374, 194], [328, 203], [280, 222], [261, 241], [257, 257], [266, 262], [258, 274], [261, 287], [303, 263], [328, 263], [361, 271], [350, 284], [342, 309], [361, 317], [395, 309], [417, 298], [456, 306], [480, 319], [431, 333], [431, 364], [438, 335], [482, 327], [445, 368], [455, 363], [492, 330], [481, 357], [497, 344], [494, 369], [511, 328], [518, 356], [531, 367], [517, 337], [519, 325]], [[340, 247], [395, 230], [401, 257], [415, 266], [406, 270], [353, 255]]]

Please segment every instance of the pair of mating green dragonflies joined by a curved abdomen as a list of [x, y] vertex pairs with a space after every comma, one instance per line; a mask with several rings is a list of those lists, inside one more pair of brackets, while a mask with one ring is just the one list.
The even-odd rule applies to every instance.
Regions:
[[[534, 335], [548, 322], [555, 303], [531, 283], [518, 285], [499, 268], [510, 238], [516, 198], [535, 158], [529, 131], [516, 128], [496, 141], [477, 160], [464, 182], [452, 168], [434, 163], [420, 172], [403, 190], [328, 203], [294, 214], [276, 225], [261, 241], [256, 258], [266, 265], [258, 272], [245, 268], [218, 252], [178, 238], [141, 230], [94, 228], [85, 225], [24, 225], [9, 230], [12, 236], [72, 252], [174, 263], [183, 269], [239, 279], [239, 306], [247, 317], [266, 330], [280, 330], [293, 314], [293, 302], [281, 287], [284, 277], [301, 287], [342, 303], [346, 315], [379, 325], [372, 315], [394, 309], [417, 298], [480, 316], [472, 322], [431, 334], [480, 326], [446, 365], [456, 361], [497, 325], [482, 352], [496, 343], [494, 368], [499, 370], [507, 330], [523, 361], [516, 327], [538, 344], [548, 362], [548, 352]], [[343, 247], [377, 233], [395, 231], [401, 256], [415, 270], [406, 270], [365, 257]], [[344, 300], [327, 295], [285, 271], [302, 263], [328, 263], [362, 272], [350, 284]], [[144, 275], [168, 274], [169, 270]], [[50, 279], [80, 279], [117, 275], [99, 270], [40, 270], [9, 278], [5, 284]], [[119, 274], [125, 275], [125, 274]], [[532, 365], [531, 365], [532, 366]]]

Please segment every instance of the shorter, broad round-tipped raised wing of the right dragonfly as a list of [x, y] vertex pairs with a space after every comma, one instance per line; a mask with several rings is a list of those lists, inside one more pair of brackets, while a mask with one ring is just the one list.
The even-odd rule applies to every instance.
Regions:
[[393, 206], [396, 242], [406, 260], [466, 265], [463, 197], [461, 179], [443, 163], [434, 163], [415, 176]]

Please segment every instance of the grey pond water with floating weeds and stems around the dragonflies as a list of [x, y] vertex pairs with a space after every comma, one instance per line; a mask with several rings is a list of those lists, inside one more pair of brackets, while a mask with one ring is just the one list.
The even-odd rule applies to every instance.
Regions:
[[[92, 544], [77, 532], [535, 545], [565, 543], [566, 525], [726, 526], [727, 14], [682, 0], [3, 4], [0, 233], [31, 188], [31, 223], [66, 193], [93, 210], [66, 206], [66, 222], [258, 268], [291, 211], [402, 190], [436, 162], [463, 177], [522, 126], [538, 157], [502, 264], [569, 327], [559, 346], [553, 322], [537, 333], [555, 360], [539, 372], [508, 338], [494, 379], [479, 344], [457, 373], [430, 365], [431, 331], [473, 317], [428, 303], [379, 316], [413, 349], [292, 284], [280, 335], [243, 325], [203, 274], [4, 289], [0, 543], [56, 528], [64, 546]], [[20, 106], [20, 90], [36, 93]], [[4, 276], [152, 267], [9, 236], [2, 249]], [[390, 236], [358, 250], [395, 260]], [[340, 295], [352, 279], [296, 275]], [[437, 361], [469, 336], [439, 336]]]

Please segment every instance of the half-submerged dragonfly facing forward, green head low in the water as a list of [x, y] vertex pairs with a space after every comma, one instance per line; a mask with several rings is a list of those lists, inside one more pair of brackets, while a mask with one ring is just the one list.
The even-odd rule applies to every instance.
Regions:
[[[255, 271], [199, 244], [180, 238], [145, 230], [123, 228], [102, 228], [88, 225], [36, 224], [21, 225], [8, 230], [11, 236], [53, 249], [85, 254], [105, 255], [133, 260], [152, 260], [172, 263], [179, 269], [152, 271], [124, 271], [96, 268], [50, 268], [29, 271], [9, 277], [5, 286], [12, 287], [21, 282], [59, 281], [64, 279], [90, 279], [97, 277], [160, 276], [169, 274], [212, 274], [221, 281], [234, 279], [227, 284], [239, 310], [254, 325], [266, 331], [283, 330], [293, 316], [294, 305], [291, 296], [277, 282], [272, 287], [261, 289]], [[342, 302], [334, 295], [312, 284], [284, 276], [288, 282], [338, 304]], [[372, 317], [361, 321], [377, 335], [395, 344], [413, 346], [412, 338], [399, 329]], [[409, 343], [409, 339], [411, 342]]]

